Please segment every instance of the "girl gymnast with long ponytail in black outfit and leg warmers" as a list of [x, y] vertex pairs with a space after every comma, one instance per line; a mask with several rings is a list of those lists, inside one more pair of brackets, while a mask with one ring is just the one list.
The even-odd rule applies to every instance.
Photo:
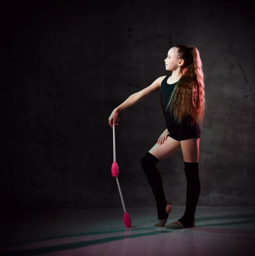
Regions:
[[[155, 227], [182, 229], [195, 227], [195, 211], [200, 195], [199, 141], [206, 110], [205, 86], [202, 61], [196, 47], [176, 45], [169, 49], [165, 70], [171, 76], [160, 76], [150, 86], [133, 93], [125, 102], [113, 110], [109, 125], [118, 125], [118, 114], [160, 90], [162, 112], [166, 130], [157, 143], [142, 157], [141, 166], [154, 193], [159, 222]], [[197, 123], [200, 123], [200, 125]], [[162, 178], [156, 163], [174, 154], [181, 148], [187, 180], [186, 208], [184, 215], [165, 226], [171, 212], [171, 203], [166, 201]]]

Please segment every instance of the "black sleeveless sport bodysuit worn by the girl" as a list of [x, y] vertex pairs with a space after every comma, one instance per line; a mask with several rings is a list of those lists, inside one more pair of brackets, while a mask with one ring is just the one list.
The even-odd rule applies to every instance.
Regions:
[[201, 131], [197, 121], [191, 126], [188, 123], [189, 119], [192, 118], [191, 115], [185, 117], [182, 123], [179, 125], [174, 120], [174, 114], [170, 112], [166, 112], [165, 108], [170, 99], [174, 87], [176, 86], [177, 82], [174, 84], [167, 84], [167, 79], [169, 76], [166, 76], [163, 81], [161, 82], [161, 89], [160, 89], [160, 102], [162, 106], [162, 112], [165, 118], [165, 125], [169, 132], [169, 137], [173, 138], [174, 140], [188, 140], [194, 137], [200, 137]]

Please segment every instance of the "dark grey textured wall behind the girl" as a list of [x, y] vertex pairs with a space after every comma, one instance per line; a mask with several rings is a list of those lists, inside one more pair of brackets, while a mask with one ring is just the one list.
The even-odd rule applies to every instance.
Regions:
[[[207, 110], [198, 206], [255, 205], [255, 55], [251, 1], [51, 1], [2, 9], [1, 205], [122, 207], [108, 118], [171, 75], [175, 44], [195, 46]], [[140, 159], [165, 130], [159, 91], [119, 113], [116, 160], [126, 207], [156, 206]], [[185, 205], [182, 152], [157, 164]]]

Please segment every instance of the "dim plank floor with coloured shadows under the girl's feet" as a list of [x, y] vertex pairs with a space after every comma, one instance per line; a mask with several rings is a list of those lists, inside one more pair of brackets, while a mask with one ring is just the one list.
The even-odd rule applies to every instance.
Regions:
[[[168, 223], [182, 217], [173, 207]], [[156, 207], [1, 212], [0, 255], [253, 256], [255, 207], [197, 207], [194, 228], [154, 227]]]

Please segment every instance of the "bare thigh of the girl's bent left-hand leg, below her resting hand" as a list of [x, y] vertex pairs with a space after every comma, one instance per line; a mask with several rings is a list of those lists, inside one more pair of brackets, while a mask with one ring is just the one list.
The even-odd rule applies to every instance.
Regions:
[[178, 149], [181, 148], [181, 143], [178, 140], [174, 140], [171, 137], [167, 137], [164, 143], [159, 144], [156, 143], [149, 152], [154, 155], [159, 160], [162, 160], [166, 157], [171, 156], [174, 154]]

